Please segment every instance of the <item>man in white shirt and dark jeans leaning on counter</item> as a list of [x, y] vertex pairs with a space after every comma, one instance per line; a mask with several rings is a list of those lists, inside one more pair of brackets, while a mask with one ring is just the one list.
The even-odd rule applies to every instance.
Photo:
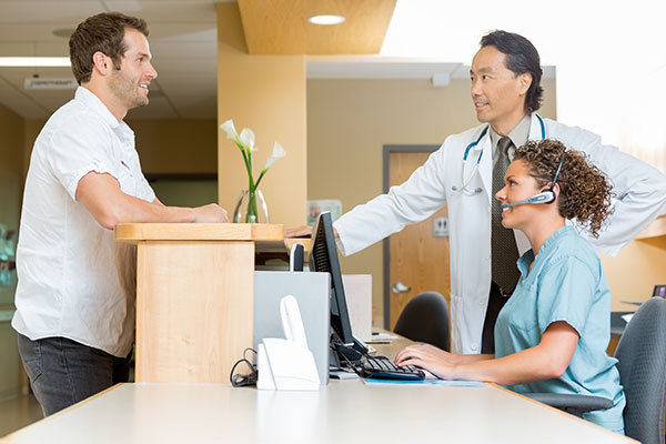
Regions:
[[44, 415], [129, 377], [134, 341], [134, 249], [128, 222], [228, 222], [216, 204], [165, 206], [141, 172], [123, 122], [148, 104], [158, 72], [148, 26], [101, 13], [70, 39], [74, 99], [34, 142], [17, 249], [19, 352]]

